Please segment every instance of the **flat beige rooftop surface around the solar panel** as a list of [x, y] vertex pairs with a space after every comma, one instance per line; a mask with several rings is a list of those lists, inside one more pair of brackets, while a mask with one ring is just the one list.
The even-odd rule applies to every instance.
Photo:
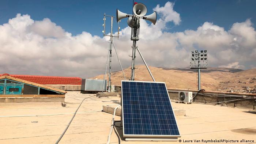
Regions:
[[[16, 106], [0, 105], [0, 116], [62, 114], [37, 117], [0, 117], [0, 143], [55, 143], [68, 125], [73, 116], [72, 113], [75, 112], [80, 102], [84, 98], [93, 95], [80, 94], [74, 91], [68, 92], [65, 97], [66, 107], [54, 105], [53, 103], [50, 105], [48, 103], [40, 103], [40, 105], [19, 103]], [[119, 104], [119, 96], [109, 98], [96, 98], [96, 96], [93, 96], [85, 99], [60, 143], [106, 143], [113, 115], [100, 110], [102, 105]], [[172, 106], [176, 109], [186, 110], [186, 116], [176, 117], [181, 133], [181, 138], [178, 140], [181, 140], [181, 143], [185, 143], [183, 142], [185, 140], [200, 140], [202, 143], [202, 140], [211, 139], [239, 141], [245, 139], [256, 142], [256, 111], [197, 103], [172, 102]], [[115, 116], [115, 120], [120, 120], [120, 117]], [[37, 123], [33, 123], [33, 121], [37, 121]], [[121, 136], [121, 143], [180, 143], [179, 141], [124, 141], [122, 129], [117, 128], [117, 130]], [[110, 143], [118, 143], [114, 130]]]

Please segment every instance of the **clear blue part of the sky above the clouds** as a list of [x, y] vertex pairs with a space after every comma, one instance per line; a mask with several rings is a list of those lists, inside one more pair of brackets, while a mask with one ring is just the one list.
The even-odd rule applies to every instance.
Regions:
[[[167, 0], [139, 0], [147, 6], [148, 13], [160, 4], [163, 6]], [[212, 22], [225, 30], [229, 30], [233, 23], [244, 22], [251, 18], [256, 23], [255, 0], [176, 0], [174, 11], [181, 17], [181, 23], [174, 26], [167, 24], [165, 31], [177, 32], [187, 29], [196, 30], [204, 22]], [[72, 35], [87, 31], [92, 35], [102, 37], [103, 14], [116, 15], [116, 8], [131, 14], [132, 0], [1, 0], [0, 24], [7, 23], [8, 19], [14, 18], [17, 13], [29, 14], [34, 20], [49, 18], [52, 22], [60, 25]], [[126, 27], [126, 22], [120, 23]]]

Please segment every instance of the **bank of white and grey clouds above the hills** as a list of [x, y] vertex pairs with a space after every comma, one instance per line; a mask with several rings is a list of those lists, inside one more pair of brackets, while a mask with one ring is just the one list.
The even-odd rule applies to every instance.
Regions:
[[[256, 67], [256, 31], [250, 19], [234, 23], [227, 31], [205, 22], [196, 30], [169, 33], [165, 31], [167, 22], [181, 22], [173, 6], [167, 2], [154, 8], [160, 15], [156, 25], [141, 20], [137, 45], [148, 65], [189, 67], [191, 50], [206, 49], [209, 67]], [[85, 31], [72, 36], [48, 18], [34, 21], [20, 14], [0, 25], [0, 31], [0, 73], [84, 78], [105, 72], [108, 38]], [[123, 68], [127, 68], [131, 66], [131, 28], [125, 27], [120, 33], [114, 43]], [[114, 51], [112, 55], [113, 71], [120, 70]], [[143, 64], [138, 53], [136, 64]]]

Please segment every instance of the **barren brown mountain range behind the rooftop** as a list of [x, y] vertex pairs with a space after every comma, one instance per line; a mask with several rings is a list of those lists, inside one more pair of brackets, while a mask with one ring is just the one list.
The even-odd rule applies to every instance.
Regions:
[[[153, 81], [144, 65], [138, 65], [136, 68], [138, 69], [135, 69], [135, 80]], [[150, 70], [155, 80], [157, 82], [165, 82], [167, 88], [197, 89], [196, 69], [150, 67]], [[131, 77], [131, 68], [124, 69], [124, 73], [128, 80]], [[103, 79], [103, 76], [95, 76], [92, 79]], [[121, 85], [121, 80], [124, 80], [122, 71], [112, 72], [111, 77], [112, 85]], [[256, 85], [256, 79], [253, 79], [254, 77], [256, 77], [256, 69], [244, 71], [242, 69], [210, 67], [201, 69], [201, 88], [208, 91], [236, 90], [236, 92], [242, 92], [244, 87], [254, 88]], [[244, 83], [238, 83], [239, 81]]]

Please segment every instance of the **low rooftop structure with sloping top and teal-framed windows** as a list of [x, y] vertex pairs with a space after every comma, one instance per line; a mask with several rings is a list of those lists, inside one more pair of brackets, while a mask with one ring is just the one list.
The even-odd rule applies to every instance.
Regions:
[[0, 102], [64, 102], [64, 98], [63, 90], [17, 79], [8, 74], [0, 76]]

